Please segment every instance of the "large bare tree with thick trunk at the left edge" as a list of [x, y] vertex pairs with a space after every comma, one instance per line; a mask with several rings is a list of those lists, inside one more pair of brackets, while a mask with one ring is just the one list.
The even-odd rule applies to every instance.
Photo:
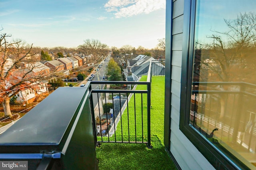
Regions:
[[12, 116], [10, 99], [42, 78], [34, 74], [35, 66], [23, 67], [25, 63], [32, 64], [32, 45], [27, 45], [20, 39], [11, 41], [10, 37], [6, 33], [0, 34], [0, 102], [5, 117]]

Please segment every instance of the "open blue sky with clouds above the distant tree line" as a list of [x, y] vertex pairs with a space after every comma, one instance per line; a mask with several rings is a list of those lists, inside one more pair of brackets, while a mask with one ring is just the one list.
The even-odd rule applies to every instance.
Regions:
[[165, 37], [166, 0], [0, 0], [1, 33], [34, 47], [77, 47], [98, 39], [109, 47], [151, 49]]

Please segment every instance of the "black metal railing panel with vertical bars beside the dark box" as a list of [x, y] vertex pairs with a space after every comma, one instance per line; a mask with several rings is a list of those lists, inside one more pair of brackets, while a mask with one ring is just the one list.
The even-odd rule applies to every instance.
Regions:
[[[96, 142], [145, 143], [150, 147], [150, 82], [92, 81], [89, 84]], [[95, 84], [119, 89], [93, 89]], [[127, 89], [132, 86], [133, 89]]]

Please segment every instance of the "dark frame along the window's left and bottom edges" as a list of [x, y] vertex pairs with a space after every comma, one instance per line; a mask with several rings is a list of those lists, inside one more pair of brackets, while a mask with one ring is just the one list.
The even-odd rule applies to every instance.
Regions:
[[184, 0], [179, 128], [214, 168], [250, 169], [234, 155], [236, 153], [231, 154], [228, 150], [218, 149], [206, 137], [199, 134], [195, 128], [189, 125], [195, 18], [196, 0]]

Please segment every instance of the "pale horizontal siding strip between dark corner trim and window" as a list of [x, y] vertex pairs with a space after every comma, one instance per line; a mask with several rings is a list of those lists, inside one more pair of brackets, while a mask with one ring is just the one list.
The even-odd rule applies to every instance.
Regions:
[[184, 0], [175, 0], [173, 9], [170, 151], [184, 170], [213, 170], [213, 166], [179, 129]]

